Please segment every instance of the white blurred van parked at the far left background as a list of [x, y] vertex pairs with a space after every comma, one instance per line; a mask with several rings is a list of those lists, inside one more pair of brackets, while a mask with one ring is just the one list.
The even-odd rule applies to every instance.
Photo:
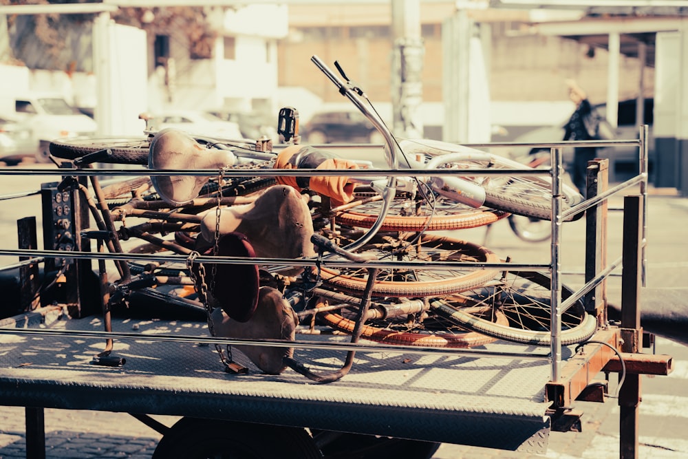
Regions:
[[9, 101], [10, 109], [21, 120], [27, 120], [32, 127], [34, 139], [39, 142], [35, 158], [48, 162], [50, 142], [56, 138], [93, 136], [98, 125], [76, 107], [69, 105], [58, 94], [28, 94]]

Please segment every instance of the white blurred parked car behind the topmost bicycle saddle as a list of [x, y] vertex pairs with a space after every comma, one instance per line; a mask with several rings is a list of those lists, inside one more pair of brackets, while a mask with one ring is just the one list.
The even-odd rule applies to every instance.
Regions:
[[149, 126], [156, 131], [172, 127], [197, 136], [237, 140], [243, 138], [236, 122], [222, 120], [205, 111], [170, 110], [154, 113]]

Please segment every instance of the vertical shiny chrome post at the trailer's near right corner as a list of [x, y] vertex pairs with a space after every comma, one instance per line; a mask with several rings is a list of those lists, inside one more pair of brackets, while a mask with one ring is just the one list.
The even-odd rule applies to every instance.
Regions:
[[552, 333], [552, 382], [559, 381], [561, 369], [561, 188], [563, 179], [563, 153], [561, 147], [552, 148], [552, 248], [550, 292], [550, 331]]

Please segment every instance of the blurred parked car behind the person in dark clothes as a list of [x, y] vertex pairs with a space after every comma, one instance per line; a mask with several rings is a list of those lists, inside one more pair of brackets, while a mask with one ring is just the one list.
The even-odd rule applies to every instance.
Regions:
[[[636, 127], [636, 106], [637, 100], [622, 100], [619, 102], [618, 123], [615, 130], [617, 139], [634, 139], [638, 138], [639, 130]], [[595, 108], [602, 116], [607, 114], [607, 105], [595, 105]], [[645, 99], [644, 120], [643, 124], [648, 125], [647, 148], [648, 148], [648, 162], [650, 180], [653, 178], [653, 166], [655, 161], [654, 155], [654, 136], [652, 135], [652, 125], [654, 122], [654, 99]], [[568, 121], [568, 120], [567, 120]], [[542, 142], [559, 142], [563, 139], [564, 126], [547, 126], [533, 129], [518, 136], [513, 141], [523, 143], [542, 143]], [[511, 151], [513, 156], [524, 156], [528, 152], [535, 152], [538, 149], [529, 149], [528, 147], [519, 147]], [[631, 146], [624, 147], [608, 147], [598, 150], [599, 158], [608, 158], [610, 160], [609, 180], [610, 182], [623, 182], [638, 174], [638, 148]], [[567, 165], [573, 162], [573, 149], [563, 149], [563, 160]]]

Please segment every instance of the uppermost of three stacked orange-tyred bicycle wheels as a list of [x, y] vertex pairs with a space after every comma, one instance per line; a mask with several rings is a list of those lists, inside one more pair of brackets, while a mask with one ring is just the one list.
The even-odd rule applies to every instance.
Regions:
[[[430, 191], [428, 193], [431, 193]], [[360, 204], [336, 214], [336, 222], [357, 228], [371, 228], [380, 214], [381, 201]], [[436, 197], [435, 202], [413, 199], [400, 193], [391, 203], [380, 231], [449, 231], [476, 228], [497, 222], [508, 213], [494, 209], [473, 209]]]

